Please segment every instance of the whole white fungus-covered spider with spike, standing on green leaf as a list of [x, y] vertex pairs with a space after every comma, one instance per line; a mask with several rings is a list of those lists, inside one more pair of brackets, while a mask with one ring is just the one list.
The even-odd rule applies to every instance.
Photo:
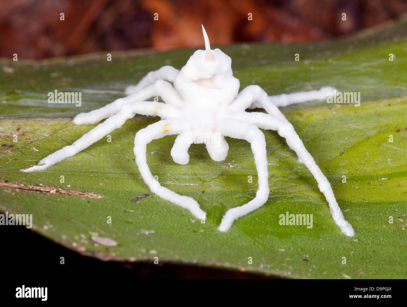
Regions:
[[[258, 191], [256, 197], [247, 204], [225, 213], [219, 230], [227, 231], [234, 220], [254, 211], [267, 201], [269, 174], [266, 142], [259, 128], [275, 130], [286, 139], [289, 147], [297, 153], [300, 161], [305, 163], [317, 180], [319, 190], [328, 201], [335, 223], [343, 233], [353, 236], [352, 226], [344, 219], [329, 181], [304, 147], [293, 126], [278, 109], [278, 106], [326, 99], [326, 93], [333, 89], [324, 87], [319, 91], [267, 96], [267, 93], [258, 85], [250, 85], [239, 93], [240, 84], [233, 76], [232, 60], [220, 49], [211, 50], [208, 35], [203, 26], [202, 30], [206, 50], [195, 51], [181, 70], [164, 66], [149, 72], [137, 85], [126, 89], [126, 94], [129, 96], [117, 99], [101, 109], [78, 114], [73, 120], [75, 124], [95, 124], [105, 118], [107, 120], [72, 145], [54, 152], [39, 161], [38, 165], [22, 171], [44, 170], [75, 155], [122, 126], [135, 114], [159, 116], [162, 120], [138, 131], [134, 139], [134, 153], [140, 174], [151, 192], [188, 209], [197, 218], [205, 220], [206, 213], [199, 207], [196, 200], [162, 187], [155, 180], [147, 165], [146, 146], [153, 139], [177, 135], [171, 149], [171, 156], [176, 163], [186, 164], [189, 161], [188, 148], [194, 142], [191, 135], [212, 133], [220, 136], [203, 140], [214, 161], [222, 161], [228, 155], [229, 146], [225, 136], [244, 139], [250, 143], [254, 153], [258, 172]], [[160, 96], [165, 103], [146, 101], [155, 95]], [[255, 107], [265, 109], [268, 114], [245, 111]]]

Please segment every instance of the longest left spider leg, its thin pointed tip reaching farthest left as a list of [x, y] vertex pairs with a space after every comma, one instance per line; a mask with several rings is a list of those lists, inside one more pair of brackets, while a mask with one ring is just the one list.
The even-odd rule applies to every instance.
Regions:
[[38, 162], [38, 165], [34, 165], [31, 168], [21, 170], [22, 172], [33, 172], [35, 170], [45, 170], [46, 168], [62, 161], [65, 158], [72, 157], [78, 152], [89, 147], [99, 139], [112, 132], [114, 129], [122, 126], [126, 120], [132, 118], [136, 114], [142, 115], [163, 115], [171, 114], [179, 116], [179, 111], [171, 105], [166, 105], [162, 102], [130, 102], [123, 105], [120, 111], [109, 117], [103, 123], [93, 128], [88, 133], [84, 134], [80, 139], [75, 141], [72, 145], [65, 146], [56, 152], [48, 155], [44, 159]]

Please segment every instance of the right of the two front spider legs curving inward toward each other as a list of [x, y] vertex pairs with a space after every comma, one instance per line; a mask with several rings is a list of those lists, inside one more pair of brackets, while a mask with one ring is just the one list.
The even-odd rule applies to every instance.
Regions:
[[227, 231], [234, 220], [247, 213], [261, 207], [269, 197], [269, 173], [266, 157], [266, 141], [264, 134], [253, 124], [242, 122], [241, 120], [227, 118], [219, 123], [219, 131], [222, 135], [235, 139], [245, 139], [250, 143], [254, 153], [254, 162], [258, 173], [258, 191], [256, 197], [247, 204], [229, 209], [222, 218], [218, 229]]

